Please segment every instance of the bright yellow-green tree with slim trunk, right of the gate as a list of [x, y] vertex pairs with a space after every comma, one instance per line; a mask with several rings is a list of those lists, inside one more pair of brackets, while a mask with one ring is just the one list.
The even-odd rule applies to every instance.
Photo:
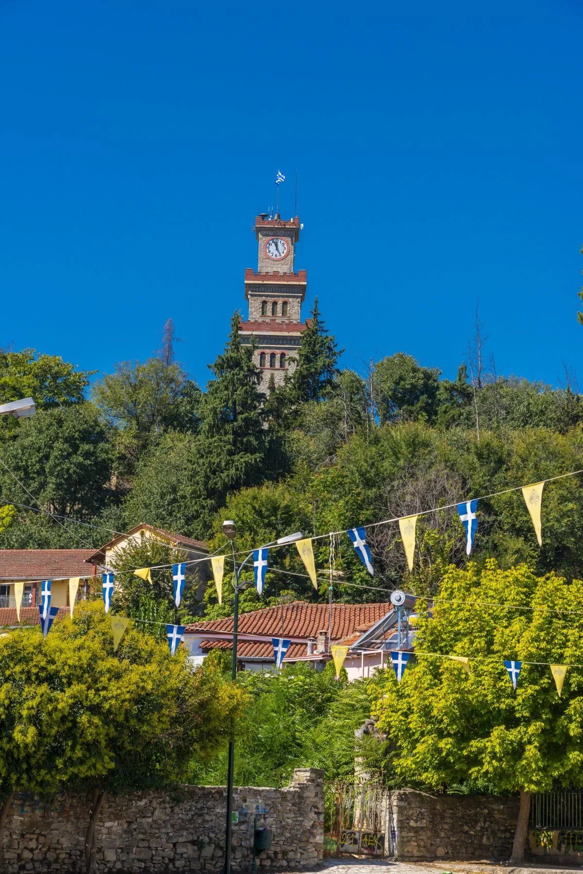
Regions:
[[482, 572], [452, 568], [415, 649], [474, 656], [470, 676], [448, 658], [420, 655], [400, 684], [387, 672], [378, 693], [374, 711], [398, 745], [402, 778], [520, 794], [510, 864], [524, 858], [531, 792], [583, 785], [583, 670], [569, 669], [559, 697], [548, 665], [524, 664], [515, 691], [503, 661], [577, 664], [582, 645], [580, 580], [536, 577], [525, 565], [502, 571], [492, 560]]

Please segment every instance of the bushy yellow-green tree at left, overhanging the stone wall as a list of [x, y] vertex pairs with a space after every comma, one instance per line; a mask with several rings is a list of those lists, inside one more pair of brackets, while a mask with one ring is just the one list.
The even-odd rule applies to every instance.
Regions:
[[218, 674], [192, 671], [187, 652], [128, 628], [113, 651], [100, 604], [73, 621], [0, 642], [0, 780], [19, 789], [80, 784], [92, 790], [86, 867], [108, 791], [184, 780], [188, 762], [212, 753], [233, 731], [244, 695]]

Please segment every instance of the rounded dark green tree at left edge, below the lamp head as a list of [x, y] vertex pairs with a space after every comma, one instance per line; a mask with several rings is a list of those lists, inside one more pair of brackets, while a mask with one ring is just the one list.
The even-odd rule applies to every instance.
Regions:
[[90, 404], [38, 411], [0, 446], [3, 497], [87, 520], [111, 497], [110, 437]]

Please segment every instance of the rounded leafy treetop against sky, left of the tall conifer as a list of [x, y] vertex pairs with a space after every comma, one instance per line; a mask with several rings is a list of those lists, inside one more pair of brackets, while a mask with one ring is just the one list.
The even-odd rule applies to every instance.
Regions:
[[178, 364], [123, 361], [95, 383], [92, 397], [106, 418], [138, 440], [165, 431], [196, 433], [200, 389]]

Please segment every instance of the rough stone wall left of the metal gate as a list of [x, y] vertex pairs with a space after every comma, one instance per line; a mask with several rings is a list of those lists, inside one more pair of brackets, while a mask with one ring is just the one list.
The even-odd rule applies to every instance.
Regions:
[[[272, 829], [258, 865], [297, 871], [323, 858], [323, 772], [296, 768], [285, 789], [235, 788], [233, 868], [249, 871], [253, 822]], [[4, 866], [17, 871], [84, 871], [89, 798], [52, 803], [19, 796], [6, 821]], [[225, 862], [226, 788], [183, 786], [170, 793], [108, 796], [97, 825], [97, 870], [219, 871]]]

